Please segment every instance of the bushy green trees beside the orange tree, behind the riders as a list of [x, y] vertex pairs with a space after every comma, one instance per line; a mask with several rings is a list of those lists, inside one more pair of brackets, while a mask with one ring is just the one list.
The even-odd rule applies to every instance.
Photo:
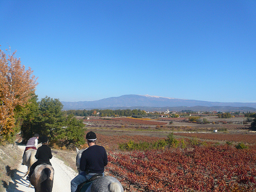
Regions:
[[62, 103], [50, 97], [42, 98], [39, 102], [33, 98], [29, 105], [29, 113], [23, 116], [22, 137], [28, 140], [32, 135], [48, 136], [51, 144], [69, 146], [84, 144], [84, 125], [72, 114], [65, 116]]

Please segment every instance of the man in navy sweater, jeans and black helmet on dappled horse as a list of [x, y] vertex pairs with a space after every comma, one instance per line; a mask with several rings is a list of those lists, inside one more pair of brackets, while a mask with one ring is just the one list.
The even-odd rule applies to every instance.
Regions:
[[77, 190], [77, 186], [93, 175], [102, 174], [104, 176], [104, 166], [108, 164], [108, 156], [103, 146], [96, 145], [96, 134], [89, 132], [86, 135], [89, 147], [82, 152], [80, 160], [81, 172], [71, 181], [71, 192]]

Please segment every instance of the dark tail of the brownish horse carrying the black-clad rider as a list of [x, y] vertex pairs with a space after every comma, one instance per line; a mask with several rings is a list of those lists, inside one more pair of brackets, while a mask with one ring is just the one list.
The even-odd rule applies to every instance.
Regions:
[[41, 191], [45, 192], [51, 192], [53, 187], [53, 181], [50, 179], [51, 177], [51, 169], [50, 168], [44, 168], [41, 172], [40, 178], [38, 180], [38, 183], [41, 185]]

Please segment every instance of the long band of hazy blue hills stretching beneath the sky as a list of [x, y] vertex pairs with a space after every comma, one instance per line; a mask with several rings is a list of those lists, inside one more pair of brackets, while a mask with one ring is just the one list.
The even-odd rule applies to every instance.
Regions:
[[96, 101], [61, 101], [63, 110], [141, 109], [145, 111], [240, 111], [256, 112], [256, 103], [210, 102], [150, 95], [122, 95]]

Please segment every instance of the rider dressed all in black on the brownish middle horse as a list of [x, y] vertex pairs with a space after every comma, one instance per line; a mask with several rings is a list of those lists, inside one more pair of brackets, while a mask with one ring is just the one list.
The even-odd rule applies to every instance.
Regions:
[[50, 159], [52, 158], [52, 151], [48, 144], [48, 137], [42, 137], [41, 139], [42, 146], [38, 147], [35, 158], [37, 159], [36, 162], [33, 163], [30, 167], [28, 179], [30, 180], [31, 175], [34, 172], [34, 169], [37, 165], [46, 163], [48, 165], [52, 165]]

